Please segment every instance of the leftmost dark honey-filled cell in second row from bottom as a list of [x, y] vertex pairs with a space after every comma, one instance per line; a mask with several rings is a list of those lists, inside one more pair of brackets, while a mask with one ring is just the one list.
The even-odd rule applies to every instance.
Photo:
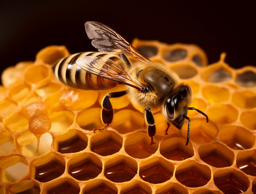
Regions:
[[58, 178], [65, 171], [65, 160], [53, 152], [38, 158], [32, 165], [31, 176], [43, 183]]

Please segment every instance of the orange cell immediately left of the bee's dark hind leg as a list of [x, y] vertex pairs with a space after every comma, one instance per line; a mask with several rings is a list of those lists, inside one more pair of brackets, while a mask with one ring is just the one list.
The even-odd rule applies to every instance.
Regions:
[[81, 111], [75, 120], [76, 124], [82, 129], [93, 130], [101, 128], [104, 124], [101, 121], [101, 108], [90, 108]]

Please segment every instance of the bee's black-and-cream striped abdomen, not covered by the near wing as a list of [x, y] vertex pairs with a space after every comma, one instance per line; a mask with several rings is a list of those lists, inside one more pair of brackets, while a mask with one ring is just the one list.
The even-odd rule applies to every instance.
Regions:
[[101, 78], [81, 69], [76, 64], [76, 60], [83, 56], [101, 56], [106, 59], [111, 58], [112, 60], [119, 60], [119, 58], [114, 55], [99, 52], [76, 53], [61, 59], [52, 67], [56, 78], [65, 85], [85, 90], [111, 89], [117, 85], [115, 81]]

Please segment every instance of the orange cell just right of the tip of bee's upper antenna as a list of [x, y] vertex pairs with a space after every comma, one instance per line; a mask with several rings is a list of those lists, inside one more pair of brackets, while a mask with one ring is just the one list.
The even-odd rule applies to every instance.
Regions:
[[238, 119], [238, 110], [229, 104], [216, 104], [209, 107], [209, 120], [221, 125], [233, 123]]

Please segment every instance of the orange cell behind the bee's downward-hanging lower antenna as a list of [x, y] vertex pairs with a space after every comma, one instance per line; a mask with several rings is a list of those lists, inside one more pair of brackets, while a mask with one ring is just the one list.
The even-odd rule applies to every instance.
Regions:
[[[209, 116], [209, 115], [208, 115]], [[211, 120], [211, 117], [209, 117]], [[183, 133], [187, 134], [187, 122], [182, 127]], [[214, 123], [206, 123], [205, 118], [192, 118], [190, 127], [190, 140], [196, 143], [209, 143], [218, 135], [218, 127]]]

